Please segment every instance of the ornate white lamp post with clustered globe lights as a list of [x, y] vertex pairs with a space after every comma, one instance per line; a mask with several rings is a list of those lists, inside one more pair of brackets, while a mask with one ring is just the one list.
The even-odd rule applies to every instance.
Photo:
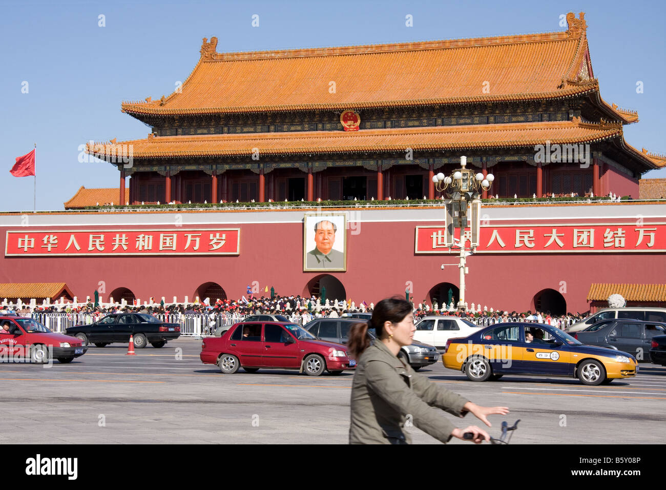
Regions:
[[[460, 228], [460, 295], [458, 298], [458, 309], [465, 310], [465, 275], [467, 273], [466, 259], [468, 255], [472, 255], [476, 250], [479, 241], [479, 221], [481, 215], [481, 193], [488, 191], [495, 177], [489, 173], [484, 177], [481, 172], [474, 173], [474, 171], [466, 168], [467, 157], [460, 157], [460, 169], [452, 172], [450, 176], [445, 176], [443, 173], [438, 173], [432, 177], [435, 187], [438, 192], [447, 191], [447, 196], [451, 202], [447, 206], [451, 206], [451, 212], [447, 215], [454, 217], [456, 210], [458, 211], [458, 220], [454, 219], [454, 228]], [[465, 228], [467, 226], [467, 208], [472, 203], [472, 237], [470, 239], [470, 252], [465, 251]], [[457, 222], [456, 222], [457, 221]], [[453, 229], [449, 229], [447, 222], [447, 245], [449, 248], [453, 245]]]

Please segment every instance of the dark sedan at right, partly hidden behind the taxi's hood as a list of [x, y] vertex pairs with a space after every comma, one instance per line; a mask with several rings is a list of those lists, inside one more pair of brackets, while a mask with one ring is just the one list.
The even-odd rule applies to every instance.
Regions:
[[650, 347], [655, 335], [666, 333], [665, 323], [639, 321], [631, 319], [605, 320], [573, 333], [573, 337], [585, 345], [609, 347], [628, 352], [638, 361], [650, 361]]

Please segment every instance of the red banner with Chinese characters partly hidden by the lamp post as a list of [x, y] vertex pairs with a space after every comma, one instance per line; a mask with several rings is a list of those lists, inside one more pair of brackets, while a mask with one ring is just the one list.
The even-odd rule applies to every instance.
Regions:
[[[416, 227], [416, 253], [449, 253], [444, 227]], [[470, 230], [466, 231], [469, 247]], [[460, 238], [460, 229], [456, 229]], [[452, 253], [460, 249], [452, 248]], [[666, 224], [481, 227], [476, 253], [623, 253], [666, 251]]]

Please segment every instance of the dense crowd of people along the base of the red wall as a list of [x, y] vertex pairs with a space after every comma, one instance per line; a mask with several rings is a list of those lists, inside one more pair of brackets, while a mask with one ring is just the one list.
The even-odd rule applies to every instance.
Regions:
[[[566, 313], [561, 315], [551, 314], [550, 311], [503, 311], [502, 309], [490, 309], [490, 311], [451, 311], [450, 307], [443, 305], [440, 307], [436, 301], [428, 304], [425, 300], [421, 303], [411, 301], [414, 308], [415, 321], [430, 315], [450, 315], [462, 317], [473, 321], [474, 323], [488, 325], [491, 323], [501, 323], [505, 321], [528, 321], [536, 323], [546, 323], [560, 329], [565, 329], [573, 323], [583, 321], [589, 311], [580, 313]], [[9, 306], [0, 307], [0, 315], [21, 315], [29, 316], [32, 313], [51, 313], [55, 311], [65, 311], [66, 313], [84, 314], [90, 316], [93, 321], [109, 313], [149, 313], [153, 315], [176, 315], [180, 318], [182, 315], [232, 315], [238, 319], [248, 315], [284, 315], [289, 321], [299, 320], [299, 323], [305, 324], [313, 318], [320, 317], [342, 317], [348, 313], [372, 313], [374, 304], [362, 303], [356, 305], [353, 301], [345, 300], [324, 300], [312, 296], [309, 298], [300, 295], [274, 297], [242, 297], [238, 300], [217, 299], [214, 302], [192, 303], [188, 305], [157, 303], [153, 305], [105, 305], [95, 306], [93, 303], [71, 307], [65, 305], [61, 310], [55, 306], [35, 307], [31, 309], [23, 306], [21, 309], [11, 309]]]

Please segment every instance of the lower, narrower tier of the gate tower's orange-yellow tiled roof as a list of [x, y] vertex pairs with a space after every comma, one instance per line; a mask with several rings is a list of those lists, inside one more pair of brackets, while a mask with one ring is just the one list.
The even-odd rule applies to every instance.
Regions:
[[[546, 140], [553, 144], [588, 143], [621, 137], [616, 124], [555, 121], [486, 125], [435, 126], [417, 128], [362, 129], [360, 131], [302, 131], [290, 133], [247, 133], [243, 135], [149, 135], [147, 139], [122, 141], [132, 145], [134, 158], [178, 158], [202, 156], [294, 155], [299, 153], [350, 153], [533, 147]], [[87, 151], [109, 155], [111, 143], [93, 143]], [[639, 154], [640, 155], [640, 154]]]

